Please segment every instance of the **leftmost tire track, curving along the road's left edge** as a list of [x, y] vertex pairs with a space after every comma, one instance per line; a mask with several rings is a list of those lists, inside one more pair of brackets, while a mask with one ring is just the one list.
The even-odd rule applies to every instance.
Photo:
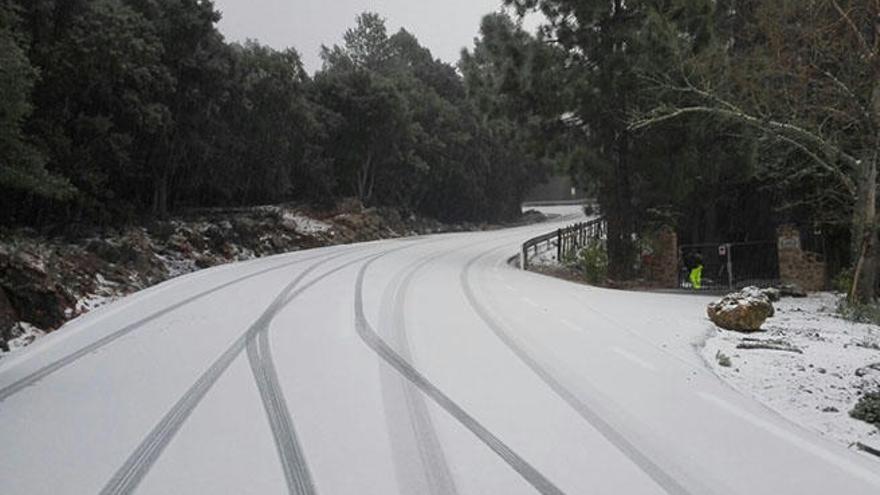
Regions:
[[217, 286], [215, 286], [211, 289], [208, 289], [206, 291], [199, 292], [198, 294], [187, 297], [186, 299], [182, 299], [182, 300], [178, 301], [177, 303], [174, 303], [171, 306], [168, 306], [166, 308], [160, 309], [158, 311], [154, 311], [153, 313], [150, 313], [149, 315], [147, 315], [137, 321], [134, 321], [134, 322], [120, 328], [119, 330], [116, 330], [110, 334], [107, 334], [104, 337], [101, 337], [100, 339], [92, 342], [91, 344], [83, 346], [79, 350], [74, 351], [71, 354], [68, 354], [67, 356], [64, 356], [63, 358], [60, 358], [52, 363], [44, 365], [43, 367], [39, 368], [38, 370], [36, 370], [32, 373], [29, 373], [28, 375], [26, 375], [22, 378], [19, 378], [18, 380], [12, 382], [11, 384], [3, 387], [2, 389], [0, 389], [0, 402], [3, 402], [4, 400], [8, 399], [9, 397], [17, 394], [18, 392], [21, 392], [26, 387], [29, 387], [29, 386], [33, 385], [34, 383], [37, 383], [38, 381], [42, 380], [43, 378], [46, 378], [47, 376], [51, 375], [52, 373], [55, 373], [56, 371], [64, 368], [65, 366], [73, 364], [74, 362], [76, 362], [77, 360], [82, 358], [83, 356], [91, 354], [91, 353], [101, 349], [102, 347], [104, 347], [104, 346], [106, 346], [116, 340], [119, 340], [120, 338], [134, 332], [135, 330], [143, 327], [144, 325], [167, 315], [168, 313], [176, 311], [176, 310], [178, 310], [188, 304], [191, 304], [191, 303], [198, 301], [200, 299], [204, 299], [207, 296], [215, 294], [223, 289], [227, 289], [229, 287], [232, 287], [233, 285], [237, 285], [239, 283], [242, 283], [246, 280], [250, 280], [252, 278], [259, 277], [260, 275], [264, 275], [266, 273], [269, 273], [269, 272], [272, 272], [275, 270], [281, 270], [281, 269], [287, 268], [289, 266], [293, 266], [293, 265], [296, 265], [299, 263], [304, 263], [306, 261], [313, 260], [313, 259], [318, 258], [320, 256], [321, 255], [312, 256], [312, 257], [308, 257], [308, 258], [289, 261], [289, 262], [283, 263], [281, 265], [272, 266], [269, 268], [264, 268], [262, 270], [258, 270], [256, 272], [254, 272], [254, 273], [250, 273], [248, 275], [244, 275], [244, 276], [235, 278], [233, 280], [230, 280], [228, 282], [222, 283], [222, 284], [217, 285]]

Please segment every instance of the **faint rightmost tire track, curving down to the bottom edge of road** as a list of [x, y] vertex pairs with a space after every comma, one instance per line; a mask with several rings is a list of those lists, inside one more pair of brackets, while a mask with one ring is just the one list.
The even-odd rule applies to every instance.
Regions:
[[[461, 286], [465, 297], [471, 307], [483, 320], [486, 326], [494, 333], [501, 342], [504, 343], [514, 354], [525, 363], [553, 392], [562, 400], [568, 403], [578, 415], [584, 418], [593, 428], [596, 429], [608, 442], [614, 445], [623, 455], [638, 466], [645, 474], [647, 474], [657, 485], [670, 495], [693, 495], [691, 491], [685, 488], [678, 480], [667, 473], [661, 466], [655, 463], [648, 456], [643, 454], [632, 442], [630, 442], [623, 434], [617, 431], [608, 421], [598, 414], [594, 407], [591, 407], [585, 401], [581, 400], [571, 390], [560, 383], [551, 373], [549, 373], [538, 360], [523, 347], [514, 337], [512, 337], [503, 325], [499, 324], [474, 295], [473, 288], [470, 283], [470, 272], [474, 264], [489, 253], [496, 251], [490, 249], [474, 258], [465, 265], [460, 274]], [[700, 492], [705, 493], [705, 492]]]

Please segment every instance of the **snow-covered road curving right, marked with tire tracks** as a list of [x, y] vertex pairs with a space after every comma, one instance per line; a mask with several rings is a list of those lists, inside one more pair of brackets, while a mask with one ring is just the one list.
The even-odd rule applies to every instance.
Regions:
[[880, 493], [706, 368], [707, 298], [506, 264], [557, 226], [228, 265], [75, 320], [0, 361], [0, 493]]

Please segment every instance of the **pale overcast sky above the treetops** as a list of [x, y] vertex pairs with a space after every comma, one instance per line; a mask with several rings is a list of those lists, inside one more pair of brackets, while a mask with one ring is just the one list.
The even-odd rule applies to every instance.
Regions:
[[[471, 47], [480, 19], [498, 10], [501, 0], [214, 0], [223, 13], [220, 31], [230, 41], [257, 39], [276, 49], [296, 48], [306, 69], [321, 67], [321, 45], [342, 41], [342, 33], [364, 11], [378, 12], [389, 34], [401, 27], [413, 33], [435, 58], [458, 61]], [[527, 26], [537, 22], [530, 19]]]

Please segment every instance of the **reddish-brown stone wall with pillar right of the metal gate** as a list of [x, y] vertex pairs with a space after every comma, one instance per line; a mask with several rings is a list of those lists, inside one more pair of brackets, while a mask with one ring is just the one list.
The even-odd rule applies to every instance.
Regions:
[[793, 225], [783, 225], [776, 233], [782, 283], [797, 284], [810, 292], [824, 290], [826, 267], [821, 255], [801, 249], [801, 233]]

